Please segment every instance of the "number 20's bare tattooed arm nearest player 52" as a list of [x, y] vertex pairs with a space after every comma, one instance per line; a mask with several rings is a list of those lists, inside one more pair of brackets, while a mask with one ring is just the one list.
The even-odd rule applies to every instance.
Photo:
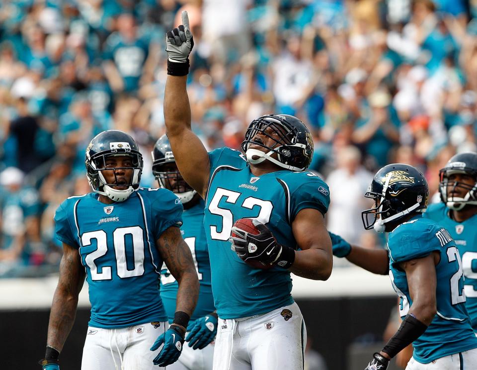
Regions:
[[189, 246], [182, 239], [180, 229], [175, 226], [161, 234], [157, 245], [167, 269], [179, 283], [176, 311], [192, 315], [199, 295], [199, 280]]

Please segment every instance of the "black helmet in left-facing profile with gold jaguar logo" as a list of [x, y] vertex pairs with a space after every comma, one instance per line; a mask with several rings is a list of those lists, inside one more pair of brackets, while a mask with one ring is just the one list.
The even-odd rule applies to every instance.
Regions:
[[386, 228], [386, 223], [395, 223], [409, 213], [426, 210], [429, 185], [424, 175], [416, 168], [395, 163], [376, 173], [365, 196], [374, 199], [375, 207], [361, 212], [364, 228], [374, 228], [382, 233], [390, 231]]

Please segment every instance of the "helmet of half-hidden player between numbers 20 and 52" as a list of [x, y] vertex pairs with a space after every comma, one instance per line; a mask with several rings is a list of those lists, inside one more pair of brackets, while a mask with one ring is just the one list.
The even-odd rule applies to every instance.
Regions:
[[153, 156], [153, 174], [159, 182], [159, 186], [172, 190], [177, 194], [183, 204], [190, 201], [196, 191], [184, 181], [179, 170], [177, 170], [177, 166], [173, 168], [167, 168], [167, 166], [165, 166], [168, 163], [175, 165], [174, 154], [172, 153], [169, 139], [166, 135], [162, 135], [158, 141], [156, 141], [156, 145], [154, 145], [154, 150], [151, 154]]

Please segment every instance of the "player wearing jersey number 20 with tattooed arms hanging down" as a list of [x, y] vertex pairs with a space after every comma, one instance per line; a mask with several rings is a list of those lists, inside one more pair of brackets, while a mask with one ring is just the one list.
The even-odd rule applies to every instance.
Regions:
[[[66, 199], [55, 214], [64, 252], [41, 365], [59, 369], [86, 278], [91, 318], [81, 369], [165, 367], [181, 353], [199, 290], [180, 234], [180, 199], [167, 189], [139, 188], [143, 158], [124, 132], [94, 137], [85, 164], [93, 192]], [[179, 283], [170, 326], [158, 290], [162, 262]]]

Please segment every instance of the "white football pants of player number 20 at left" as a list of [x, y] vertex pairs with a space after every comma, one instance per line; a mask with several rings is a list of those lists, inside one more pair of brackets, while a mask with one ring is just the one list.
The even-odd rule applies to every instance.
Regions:
[[162, 346], [154, 352], [149, 349], [168, 327], [167, 322], [160, 322], [157, 328], [150, 322], [119, 329], [90, 326], [81, 370], [163, 370], [153, 364]]

